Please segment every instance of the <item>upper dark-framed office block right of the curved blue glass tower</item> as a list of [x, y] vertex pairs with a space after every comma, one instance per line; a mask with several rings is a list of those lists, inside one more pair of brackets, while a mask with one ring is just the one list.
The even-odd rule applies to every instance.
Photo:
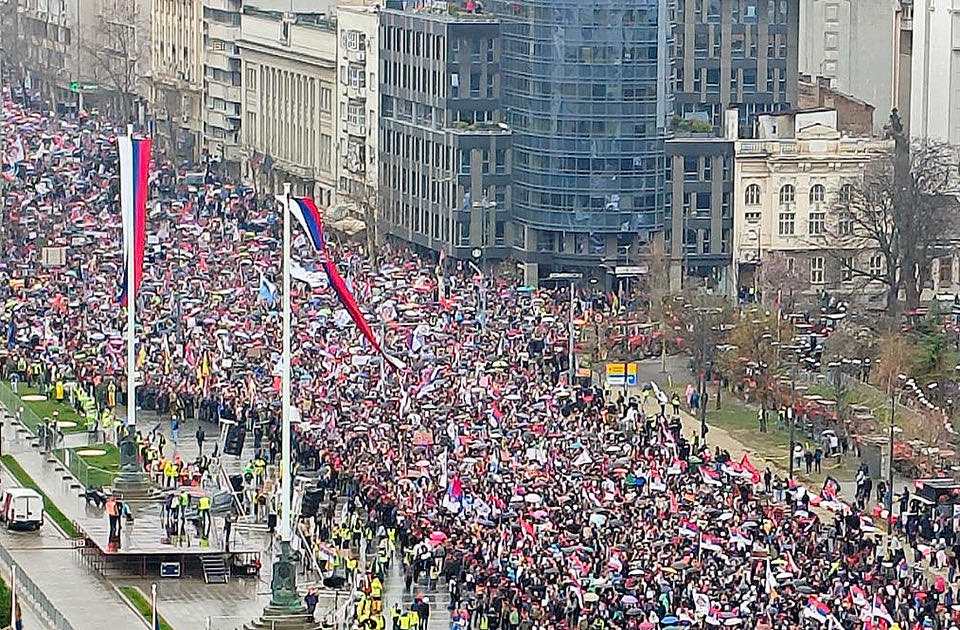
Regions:
[[679, 119], [719, 128], [735, 108], [745, 135], [756, 114], [796, 106], [799, 0], [677, 0], [676, 23]]

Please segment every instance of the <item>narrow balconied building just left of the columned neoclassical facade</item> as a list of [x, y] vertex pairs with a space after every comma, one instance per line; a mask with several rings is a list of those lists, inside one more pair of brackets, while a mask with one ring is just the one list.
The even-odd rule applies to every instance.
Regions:
[[203, 153], [239, 174], [242, 0], [203, 0]]

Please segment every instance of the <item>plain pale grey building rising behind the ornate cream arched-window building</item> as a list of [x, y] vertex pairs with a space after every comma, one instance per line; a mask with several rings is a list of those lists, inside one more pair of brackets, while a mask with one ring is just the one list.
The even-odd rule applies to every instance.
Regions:
[[893, 107], [899, 0], [800, 0], [800, 72], [873, 105], [880, 132]]

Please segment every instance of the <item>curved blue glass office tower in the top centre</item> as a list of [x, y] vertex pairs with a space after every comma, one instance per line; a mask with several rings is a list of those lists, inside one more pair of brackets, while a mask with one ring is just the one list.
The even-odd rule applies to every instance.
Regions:
[[501, 21], [503, 110], [513, 132], [511, 245], [528, 281], [571, 267], [603, 276], [663, 229], [669, 4], [489, 4]]

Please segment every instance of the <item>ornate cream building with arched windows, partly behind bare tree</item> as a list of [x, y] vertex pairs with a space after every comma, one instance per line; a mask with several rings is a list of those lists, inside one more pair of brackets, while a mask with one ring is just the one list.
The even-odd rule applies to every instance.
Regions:
[[735, 148], [733, 272], [741, 296], [760, 284], [764, 264], [785, 260], [779, 280], [792, 301], [824, 292], [883, 306], [883, 287], [850, 272], [882, 264], [854, 233], [843, 202], [870, 160], [892, 141], [837, 131], [834, 110], [760, 116], [756, 139]]

